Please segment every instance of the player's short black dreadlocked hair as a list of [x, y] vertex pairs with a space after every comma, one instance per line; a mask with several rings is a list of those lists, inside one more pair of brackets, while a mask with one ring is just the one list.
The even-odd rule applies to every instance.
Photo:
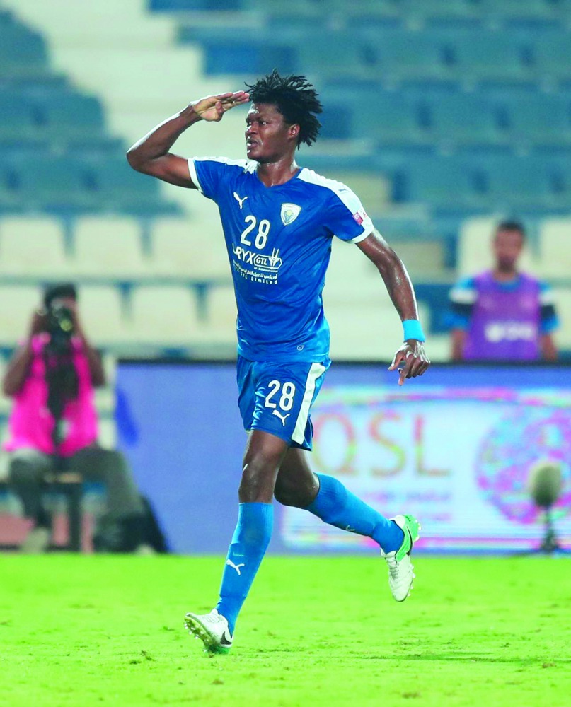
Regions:
[[289, 125], [299, 125], [297, 146], [316, 141], [321, 123], [313, 113], [323, 112], [318, 93], [305, 76], [279, 76], [277, 69], [256, 81], [246, 83], [252, 103], [272, 103]]

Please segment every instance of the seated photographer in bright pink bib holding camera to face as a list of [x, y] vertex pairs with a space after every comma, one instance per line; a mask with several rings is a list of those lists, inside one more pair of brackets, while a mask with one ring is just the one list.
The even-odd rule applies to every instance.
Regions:
[[93, 544], [103, 551], [144, 551], [145, 509], [125, 457], [98, 446], [93, 387], [105, 384], [98, 352], [86, 338], [73, 284], [47, 288], [43, 309], [34, 312], [30, 332], [4, 376], [13, 397], [9, 438], [9, 481], [33, 528], [21, 550], [45, 551], [51, 518], [42, 504], [45, 474], [74, 471], [101, 481], [107, 513]]

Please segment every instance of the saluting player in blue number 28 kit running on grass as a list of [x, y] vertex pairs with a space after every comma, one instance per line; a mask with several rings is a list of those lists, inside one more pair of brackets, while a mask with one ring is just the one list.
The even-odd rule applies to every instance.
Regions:
[[[302, 451], [311, 450], [309, 411], [330, 365], [321, 291], [333, 235], [357, 244], [374, 262], [403, 321], [404, 343], [390, 367], [398, 369], [399, 385], [429, 366], [403, 263], [350, 189], [296, 164], [296, 148], [311, 145], [320, 127], [316, 90], [304, 76], [282, 77], [277, 71], [247, 88], [248, 93], [193, 101], [127, 153], [139, 172], [198, 189], [218, 204], [231, 262], [238, 305], [238, 406], [249, 432], [238, 524], [217, 607], [185, 617], [189, 631], [213, 653], [231, 647], [238, 612], [270, 542], [274, 497], [373, 538], [397, 601], [405, 600], [413, 583], [410, 551], [418, 538], [417, 520], [383, 518], [337, 479], [314, 474]], [[200, 120], [218, 122], [248, 100], [246, 160], [187, 160], [170, 152], [185, 129]]]

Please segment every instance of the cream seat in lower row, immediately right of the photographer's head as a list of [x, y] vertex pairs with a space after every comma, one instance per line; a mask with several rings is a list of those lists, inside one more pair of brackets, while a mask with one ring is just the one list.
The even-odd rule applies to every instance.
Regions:
[[111, 285], [81, 285], [79, 313], [93, 345], [113, 346], [125, 339], [121, 293]]

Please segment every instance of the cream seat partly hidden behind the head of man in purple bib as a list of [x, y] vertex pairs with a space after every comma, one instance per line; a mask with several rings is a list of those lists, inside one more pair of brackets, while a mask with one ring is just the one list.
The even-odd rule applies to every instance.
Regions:
[[[492, 267], [492, 238], [495, 228], [502, 216], [483, 216], [467, 218], [463, 221], [458, 233], [456, 249], [456, 273], [458, 277], [473, 275]], [[522, 270], [536, 273], [536, 259], [531, 245], [526, 245], [521, 254], [519, 267]]]

